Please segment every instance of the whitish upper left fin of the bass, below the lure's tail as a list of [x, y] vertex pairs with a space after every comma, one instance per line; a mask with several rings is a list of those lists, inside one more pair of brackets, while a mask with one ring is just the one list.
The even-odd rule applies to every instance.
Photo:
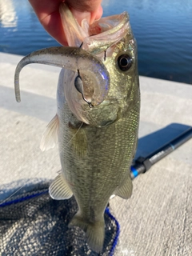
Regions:
[[54, 118], [50, 121], [46, 130], [42, 135], [42, 141], [40, 143], [40, 149], [42, 151], [50, 150], [58, 142], [58, 115], [56, 114]]

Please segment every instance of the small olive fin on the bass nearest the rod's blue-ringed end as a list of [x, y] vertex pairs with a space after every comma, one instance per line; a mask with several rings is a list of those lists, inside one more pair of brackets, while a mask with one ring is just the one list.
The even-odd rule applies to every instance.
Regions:
[[133, 190], [133, 184], [130, 178], [130, 174], [128, 174], [124, 182], [122, 182], [122, 184], [116, 188], [116, 190], [114, 191], [114, 194], [118, 195], [123, 199], [128, 199], [132, 194], [132, 190]]

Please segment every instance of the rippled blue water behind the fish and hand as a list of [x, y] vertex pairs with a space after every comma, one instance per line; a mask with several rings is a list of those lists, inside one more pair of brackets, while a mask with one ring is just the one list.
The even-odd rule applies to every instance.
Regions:
[[[104, 16], [126, 10], [138, 41], [139, 74], [192, 84], [192, 0], [104, 0]], [[27, 0], [0, 0], [0, 51], [59, 46]]]

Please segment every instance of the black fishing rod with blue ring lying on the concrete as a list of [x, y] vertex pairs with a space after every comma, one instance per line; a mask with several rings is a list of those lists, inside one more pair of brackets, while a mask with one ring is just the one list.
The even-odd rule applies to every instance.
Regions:
[[131, 179], [134, 179], [139, 174], [144, 174], [147, 170], [150, 170], [151, 166], [153, 166], [162, 158], [165, 158], [167, 154], [170, 154], [179, 146], [182, 146], [182, 144], [187, 142], [190, 138], [192, 138], [192, 127], [184, 131], [182, 134], [178, 135], [177, 138], [174, 138], [170, 142], [166, 143], [164, 146], [160, 147], [158, 150], [155, 150], [153, 153], [146, 156], [146, 158], [137, 158], [134, 161], [134, 165], [130, 167]]

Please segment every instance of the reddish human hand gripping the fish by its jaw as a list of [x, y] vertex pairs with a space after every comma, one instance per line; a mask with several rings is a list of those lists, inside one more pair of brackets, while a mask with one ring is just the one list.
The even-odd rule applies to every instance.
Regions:
[[81, 24], [86, 18], [90, 24], [102, 17], [102, 0], [29, 0], [45, 30], [62, 45], [67, 45], [65, 31], [59, 14], [59, 6], [66, 2], [74, 18]]

